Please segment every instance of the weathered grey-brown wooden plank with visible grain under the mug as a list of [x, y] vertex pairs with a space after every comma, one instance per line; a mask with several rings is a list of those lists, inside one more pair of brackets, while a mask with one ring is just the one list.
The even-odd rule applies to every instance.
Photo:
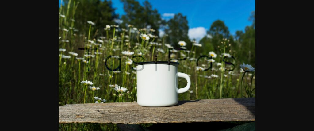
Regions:
[[179, 101], [170, 107], [136, 102], [68, 104], [59, 107], [59, 123], [192, 123], [255, 121], [255, 98]]

